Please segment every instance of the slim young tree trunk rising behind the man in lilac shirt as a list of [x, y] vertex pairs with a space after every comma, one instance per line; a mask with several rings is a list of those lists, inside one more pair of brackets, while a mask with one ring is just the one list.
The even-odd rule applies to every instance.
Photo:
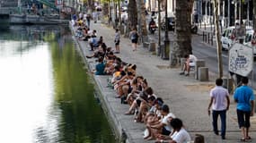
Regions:
[[217, 53], [217, 65], [218, 65], [218, 78], [223, 77], [223, 64], [222, 64], [222, 46], [220, 41], [220, 33], [219, 33], [219, 13], [218, 13], [218, 2], [214, 0], [214, 8], [215, 8], [215, 27], [216, 27], [216, 53]]

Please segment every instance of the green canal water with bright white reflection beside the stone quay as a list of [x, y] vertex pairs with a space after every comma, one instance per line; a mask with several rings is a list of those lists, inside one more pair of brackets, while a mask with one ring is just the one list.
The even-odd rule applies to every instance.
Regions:
[[1, 143], [114, 143], [67, 28], [0, 31]]

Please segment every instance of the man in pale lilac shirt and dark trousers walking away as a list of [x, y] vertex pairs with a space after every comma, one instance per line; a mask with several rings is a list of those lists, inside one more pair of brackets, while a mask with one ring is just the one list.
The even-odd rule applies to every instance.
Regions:
[[226, 111], [229, 108], [230, 100], [227, 89], [222, 87], [223, 80], [216, 79], [216, 87], [210, 91], [210, 103], [208, 105], [208, 114], [210, 115], [210, 108], [212, 107], [213, 130], [218, 135], [217, 118], [220, 115], [221, 119], [221, 138], [225, 139], [225, 119]]

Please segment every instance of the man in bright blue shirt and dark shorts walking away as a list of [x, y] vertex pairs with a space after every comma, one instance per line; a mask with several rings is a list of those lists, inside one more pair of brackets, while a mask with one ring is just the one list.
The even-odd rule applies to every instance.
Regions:
[[247, 77], [242, 78], [242, 86], [234, 91], [234, 101], [239, 128], [242, 130], [241, 141], [251, 139], [249, 136], [250, 115], [254, 114], [254, 94], [252, 88], [248, 87], [249, 80]]

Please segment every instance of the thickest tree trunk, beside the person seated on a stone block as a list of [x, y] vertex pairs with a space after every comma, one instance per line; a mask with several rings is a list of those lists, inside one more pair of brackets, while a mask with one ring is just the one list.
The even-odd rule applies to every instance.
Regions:
[[191, 18], [194, 0], [176, 1], [176, 22], [173, 48], [171, 50], [171, 66], [179, 65], [181, 57], [192, 54]]

